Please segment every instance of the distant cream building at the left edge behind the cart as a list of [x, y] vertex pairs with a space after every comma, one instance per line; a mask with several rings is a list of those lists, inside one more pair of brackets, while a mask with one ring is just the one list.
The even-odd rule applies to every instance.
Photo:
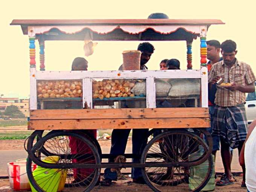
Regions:
[[29, 99], [0, 98], [0, 111], [4, 112], [6, 107], [15, 105], [26, 116], [29, 117]]

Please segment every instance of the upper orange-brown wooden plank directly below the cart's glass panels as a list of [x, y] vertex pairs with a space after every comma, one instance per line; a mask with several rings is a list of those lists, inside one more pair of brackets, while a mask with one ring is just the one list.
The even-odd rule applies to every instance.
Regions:
[[209, 117], [208, 108], [122, 108], [31, 110], [30, 119], [132, 119]]

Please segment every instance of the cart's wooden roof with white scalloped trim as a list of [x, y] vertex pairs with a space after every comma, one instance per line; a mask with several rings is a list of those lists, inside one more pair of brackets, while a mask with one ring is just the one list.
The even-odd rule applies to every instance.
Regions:
[[43, 40], [193, 40], [211, 24], [224, 24], [218, 19], [75, 19], [13, 20], [24, 35]]

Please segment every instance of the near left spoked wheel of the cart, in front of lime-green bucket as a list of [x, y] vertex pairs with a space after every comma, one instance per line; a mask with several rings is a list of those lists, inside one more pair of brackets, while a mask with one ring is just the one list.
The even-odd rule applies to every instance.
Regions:
[[[38, 151], [42, 151], [37, 155]], [[48, 154], [49, 152], [49, 154]], [[42, 137], [32, 148], [33, 157], [38, 160], [47, 160], [48, 163], [63, 165], [61, 169], [49, 169], [35, 166], [31, 154], [27, 158], [27, 175], [38, 192], [52, 191], [56, 186], [58, 190], [77, 192], [90, 191], [97, 183], [101, 169], [65, 168], [65, 165], [100, 164], [99, 153], [90, 140], [70, 131], [54, 131]], [[55, 154], [52, 156], [52, 154]], [[50, 161], [50, 162], [49, 162]], [[37, 168], [35, 168], [37, 167]], [[72, 187], [68, 189], [69, 187]]]

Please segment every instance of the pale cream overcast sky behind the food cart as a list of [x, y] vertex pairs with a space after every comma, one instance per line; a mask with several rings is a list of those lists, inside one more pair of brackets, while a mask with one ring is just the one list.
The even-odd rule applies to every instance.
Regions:
[[[0, 94], [5, 97], [29, 95], [29, 41], [20, 26], [9, 26], [13, 19], [128, 19], [147, 18], [154, 12], [164, 12], [175, 19], [221, 19], [225, 25], [212, 25], [207, 40], [220, 42], [232, 39], [237, 43], [237, 58], [251, 65], [256, 72], [254, 1], [5, 1], [0, 8]], [[212, 3], [213, 2], [213, 3]], [[177, 58], [186, 69], [186, 42], [151, 42], [155, 53], [147, 63], [149, 69], [159, 69], [165, 58]], [[137, 49], [139, 42], [98, 42], [94, 54], [86, 58], [88, 70], [116, 70], [122, 63], [122, 51]], [[70, 70], [73, 59], [84, 56], [83, 41], [46, 41], [46, 70]], [[36, 43], [39, 70], [39, 46]], [[200, 67], [200, 40], [192, 44], [193, 68]]]

